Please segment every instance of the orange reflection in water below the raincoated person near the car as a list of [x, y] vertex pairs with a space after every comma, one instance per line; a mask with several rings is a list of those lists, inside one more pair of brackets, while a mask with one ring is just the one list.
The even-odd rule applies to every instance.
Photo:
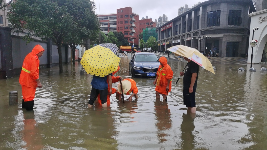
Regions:
[[166, 134], [167, 130], [170, 130], [172, 127], [171, 122], [171, 110], [168, 108], [168, 104], [165, 100], [160, 101], [160, 98], [156, 98], [155, 101], [155, 116], [156, 120], [156, 127], [158, 129], [157, 136], [158, 142], [164, 143], [166, 142], [166, 136], [170, 136]]

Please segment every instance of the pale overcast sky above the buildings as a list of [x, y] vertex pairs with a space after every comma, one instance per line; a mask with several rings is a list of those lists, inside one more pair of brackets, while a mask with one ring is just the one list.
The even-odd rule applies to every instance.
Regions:
[[133, 12], [139, 14], [140, 20], [148, 16], [148, 18], [152, 18], [152, 21], [155, 19], [158, 21], [159, 16], [165, 14], [170, 21], [178, 16], [178, 9], [181, 6], [187, 4], [188, 8], [191, 8], [194, 4], [204, 1], [207, 0], [95, 0], [95, 3], [97, 14], [113, 14], [119, 8], [132, 7]]

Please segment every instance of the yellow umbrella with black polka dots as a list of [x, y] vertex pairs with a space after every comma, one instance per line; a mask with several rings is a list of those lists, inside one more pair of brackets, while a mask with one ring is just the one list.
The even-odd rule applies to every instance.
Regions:
[[81, 64], [87, 74], [105, 77], [117, 71], [120, 58], [110, 49], [102, 46], [95, 46], [84, 52]]

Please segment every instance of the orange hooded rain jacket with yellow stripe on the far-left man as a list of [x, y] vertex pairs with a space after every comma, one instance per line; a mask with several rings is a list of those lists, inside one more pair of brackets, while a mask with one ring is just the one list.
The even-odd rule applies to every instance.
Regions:
[[41, 45], [36, 45], [32, 52], [30, 52], [24, 59], [21, 74], [19, 76], [19, 83], [30, 88], [37, 88], [39, 79], [39, 64], [40, 61], [36, 54], [44, 51]]

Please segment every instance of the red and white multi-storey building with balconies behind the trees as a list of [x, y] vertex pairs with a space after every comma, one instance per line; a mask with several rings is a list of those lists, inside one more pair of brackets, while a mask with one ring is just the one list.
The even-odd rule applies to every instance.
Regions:
[[114, 14], [100, 14], [97, 16], [101, 23], [100, 30], [105, 34], [110, 31], [121, 31], [131, 45], [139, 44], [139, 15], [133, 13], [131, 7], [117, 9]]

